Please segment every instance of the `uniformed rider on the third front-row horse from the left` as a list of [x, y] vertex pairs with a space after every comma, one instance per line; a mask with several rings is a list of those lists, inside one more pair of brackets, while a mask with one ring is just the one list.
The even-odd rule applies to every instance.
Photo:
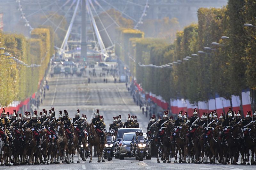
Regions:
[[41, 122], [36, 119], [36, 114], [37, 114], [37, 111], [35, 110], [34, 114], [32, 115], [32, 120], [29, 120], [27, 127], [30, 128], [31, 131], [33, 131], [33, 133], [36, 137], [37, 146], [40, 148], [41, 145], [40, 145], [40, 137], [39, 137], [38, 129], [40, 127]]

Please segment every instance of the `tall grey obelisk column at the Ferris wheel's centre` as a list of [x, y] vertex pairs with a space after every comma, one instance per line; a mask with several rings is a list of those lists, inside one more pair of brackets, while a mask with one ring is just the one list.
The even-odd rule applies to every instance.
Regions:
[[87, 59], [86, 0], [82, 0], [81, 59]]

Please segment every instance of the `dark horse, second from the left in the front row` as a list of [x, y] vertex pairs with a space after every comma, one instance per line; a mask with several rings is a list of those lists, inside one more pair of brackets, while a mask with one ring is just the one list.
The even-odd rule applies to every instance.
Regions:
[[[13, 143], [14, 145], [11, 145], [11, 150], [12, 150], [12, 156], [14, 158], [13, 165], [19, 165], [20, 163], [20, 156], [23, 151], [23, 147], [21, 147], [20, 140], [18, 138], [18, 135], [16, 134], [15, 130], [13, 130], [13, 126], [9, 127], [12, 133], [12, 138], [13, 138]], [[16, 131], [20, 132], [18, 129]]]

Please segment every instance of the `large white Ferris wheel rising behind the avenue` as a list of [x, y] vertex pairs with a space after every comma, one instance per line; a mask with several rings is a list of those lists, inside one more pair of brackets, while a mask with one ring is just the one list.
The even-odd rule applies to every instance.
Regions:
[[[61, 46], [55, 46], [62, 52], [68, 50], [68, 42], [77, 39], [81, 41], [83, 33], [79, 21], [81, 23], [81, 14], [85, 10], [86, 36], [92, 37], [92, 41], [95, 42], [94, 50], [105, 54], [106, 50], [115, 44], [115, 40], [109, 34], [109, 28], [113, 26], [121, 27], [122, 25], [118, 24], [118, 19], [124, 17], [132, 21], [134, 29], [139, 29], [149, 7], [148, 0], [15, 0], [15, 3], [18, 11], [20, 11], [20, 20], [25, 23], [28, 30], [32, 31], [34, 29], [30, 20], [35, 15], [41, 15], [45, 18], [41, 25], [50, 23], [54, 32], [61, 31], [65, 33]], [[83, 3], [86, 4], [86, 9], [83, 9]], [[111, 16], [109, 13], [111, 9], [117, 11], [118, 16]], [[110, 22], [104, 23], [100, 17], [101, 13], [104, 13]], [[64, 17], [56, 22], [53, 20], [55, 14]], [[61, 27], [65, 20], [68, 23], [68, 28]], [[76, 29], [74, 29], [74, 23]], [[106, 37], [105, 39], [108, 40], [108, 44], [103, 43], [103, 34]]]

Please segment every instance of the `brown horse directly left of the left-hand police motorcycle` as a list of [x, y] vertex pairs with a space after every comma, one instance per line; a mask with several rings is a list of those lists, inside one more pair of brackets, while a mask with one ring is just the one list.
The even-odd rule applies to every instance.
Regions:
[[[100, 135], [96, 132], [96, 130], [94, 129], [94, 125], [92, 123], [87, 125], [87, 130], [89, 134], [88, 143], [90, 144], [90, 149], [91, 149], [91, 158], [89, 163], [92, 162], [92, 146], [97, 147], [98, 162], [100, 162], [101, 157], [102, 157], [102, 162], [105, 162], [104, 156], [103, 156], [103, 150], [104, 150], [105, 144], [101, 144]], [[105, 133], [104, 135], [106, 137]], [[105, 138], [105, 143], [106, 143], [106, 138]]]

